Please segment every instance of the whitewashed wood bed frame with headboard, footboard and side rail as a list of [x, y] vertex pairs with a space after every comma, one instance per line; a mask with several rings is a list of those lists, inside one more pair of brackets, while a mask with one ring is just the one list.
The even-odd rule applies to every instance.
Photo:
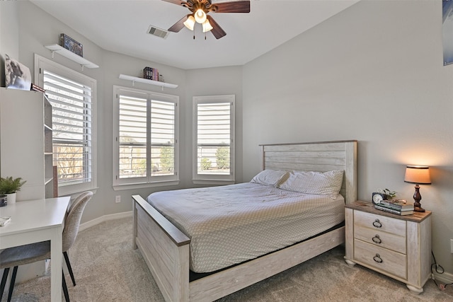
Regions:
[[[345, 170], [340, 193], [357, 199], [357, 141], [321, 141], [260, 145], [262, 168]], [[345, 227], [271, 252], [255, 260], [189, 281], [190, 238], [141, 196], [133, 195], [133, 248], [139, 248], [166, 301], [214, 301], [335, 248], [345, 241]]]

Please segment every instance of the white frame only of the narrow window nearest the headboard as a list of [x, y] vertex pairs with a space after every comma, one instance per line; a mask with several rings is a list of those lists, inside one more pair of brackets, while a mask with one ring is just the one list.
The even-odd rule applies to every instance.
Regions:
[[[230, 103], [230, 173], [229, 175], [198, 174], [198, 104]], [[235, 173], [235, 95], [202, 95], [193, 96], [193, 183], [201, 185], [229, 185], [236, 180]]]

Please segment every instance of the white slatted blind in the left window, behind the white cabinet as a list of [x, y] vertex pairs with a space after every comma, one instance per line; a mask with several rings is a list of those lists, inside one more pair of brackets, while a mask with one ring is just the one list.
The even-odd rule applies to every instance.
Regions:
[[91, 182], [92, 90], [64, 76], [43, 71], [52, 105], [53, 153], [59, 185]]

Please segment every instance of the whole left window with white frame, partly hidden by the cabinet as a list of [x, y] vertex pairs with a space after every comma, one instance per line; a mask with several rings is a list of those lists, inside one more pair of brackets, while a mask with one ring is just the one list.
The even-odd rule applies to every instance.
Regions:
[[96, 80], [38, 55], [35, 72], [52, 105], [59, 194], [96, 189]]

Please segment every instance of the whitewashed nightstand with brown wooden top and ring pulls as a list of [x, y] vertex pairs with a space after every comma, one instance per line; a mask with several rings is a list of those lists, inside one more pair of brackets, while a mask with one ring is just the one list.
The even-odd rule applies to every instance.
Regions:
[[346, 255], [356, 263], [423, 292], [431, 275], [431, 212], [398, 216], [371, 202], [345, 205]]

